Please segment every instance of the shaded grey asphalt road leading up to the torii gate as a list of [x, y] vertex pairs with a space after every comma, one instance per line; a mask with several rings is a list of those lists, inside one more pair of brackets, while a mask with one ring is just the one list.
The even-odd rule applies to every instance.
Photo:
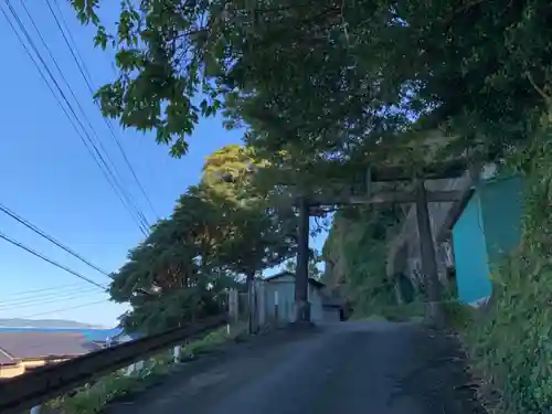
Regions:
[[[342, 322], [193, 362], [116, 414], [479, 412], [456, 343], [420, 327]], [[194, 365], [195, 364], [195, 365]]]

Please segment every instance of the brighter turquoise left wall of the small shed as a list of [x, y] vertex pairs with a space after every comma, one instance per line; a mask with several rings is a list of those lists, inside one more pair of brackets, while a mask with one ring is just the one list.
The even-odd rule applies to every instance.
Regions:
[[474, 304], [491, 294], [487, 246], [479, 193], [469, 200], [453, 227], [456, 284], [461, 304]]

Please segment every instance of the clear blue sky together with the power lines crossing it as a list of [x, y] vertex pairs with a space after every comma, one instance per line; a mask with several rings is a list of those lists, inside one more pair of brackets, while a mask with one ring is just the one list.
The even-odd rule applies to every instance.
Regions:
[[[105, 2], [102, 19], [118, 11]], [[204, 158], [243, 131], [203, 120], [173, 159], [152, 134], [102, 116], [93, 95], [117, 75], [113, 51], [94, 47], [70, 2], [0, 0], [2, 19], [0, 318], [114, 326], [127, 307], [109, 301], [110, 275], [198, 182]]]

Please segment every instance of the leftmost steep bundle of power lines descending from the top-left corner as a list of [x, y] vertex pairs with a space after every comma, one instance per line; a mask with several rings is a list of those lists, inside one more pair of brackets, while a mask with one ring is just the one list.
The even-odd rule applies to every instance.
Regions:
[[[47, 81], [44, 72], [41, 70], [41, 67], [39, 66], [36, 60], [34, 59], [34, 56], [32, 55], [32, 53], [30, 52], [30, 50], [26, 47], [26, 44], [25, 42], [23, 41], [23, 39], [21, 38], [21, 35], [19, 34], [19, 32], [17, 31], [15, 26], [13, 25], [12, 21], [10, 20], [8, 13], [6, 12], [4, 9], [0, 8], [0, 11], [2, 12], [2, 14], [4, 15], [4, 18], [8, 20], [8, 23], [10, 25], [10, 28], [12, 29], [12, 31], [14, 32], [14, 34], [17, 35], [18, 40], [20, 41], [21, 45], [23, 46], [24, 51], [26, 52], [26, 54], [29, 55], [29, 57], [31, 59], [31, 61], [33, 62], [34, 66], [36, 67], [36, 70], [39, 71], [42, 79], [45, 82], [46, 86], [49, 87], [50, 92], [52, 93], [52, 95], [54, 96], [54, 98], [56, 99], [57, 104], [60, 105], [60, 107], [62, 108], [62, 110], [64, 112], [65, 116], [67, 117], [67, 119], [70, 120], [71, 125], [73, 126], [73, 128], [75, 129], [75, 131], [77, 132], [78, 137], [81, 138], [81, 140], [83, 141], [83, 144], [85, 145], [86, 149], [88, 150], [89, 155], [92, 156], [92, 158], [94, 159], [94, 161], [96, 162], [96, 164], [98, 166], [98, 168], [100, 169], [102, 173], [104, 174], [105, 179], [107, 180], [107, 182], [109, 183], [109, 185], [112, 187], [112, 189], [114, 190], [114, 192], [116, 193], [116, 195], [119, 198], [119, 200], [121, 201], [123, 205], [127, 209], [127, 211], [130, 213], [132, 220], [135, 220], [136, 224], [138, 225], [139, 230], [142, 232], [142, 234], [145, 236], [148, 235], [148, 226], [149, 224], [147, 223], [147, 221], [144, 221], [144, 214], [139, 212], [139, 210], [137, 209], [136, 205], [134, 205], [134, 203], [131, 202], [130, 198], [126, 194], [124, 188], [121, 187], [121, 184], [118, 182], [117, 178], [115, 177], [114, 172], [109, 169], [109, 166], [107, 164], [107, 162], [105, 161], [104, 157], [102, 156], [102, 153], [99, 152], [99, 150], [97, 149], [96, 145], [94, 144], [93, 139], [91, 138], [88, 131], [86, 130], [86, 128], [84, 127], [83, 123], [81, 121], [81, 119], [78, 118], [78, 116], [76, 115], [72, 104], [68, 102], [67, 97], [65, 96], [63, 89], [61, 88], [60, 84], [57, 83], [57, 81], [55, 79], [55, 77], [53, 76], [52, 72], [50, 71], [46, 62], [44, 61], [44, 59], [42, 57], [40, 51], [38, 50], [36, 45], [34, 44], [34, 41], [32, 40], [32, 38], [30, 36], [29, 32], [26, 31], [23, 22], [21, 21], [21, 19], [19, 18], [17, 11], [13, 9], [13, 7], [11, 6], [11, 2], [10, 0], [4, 0], [6, 1], [6, 4], [8, 6], [8, 9], [10, 11], [10, 13], [12, 14], [13, 19], [15, 20], [15, 22], [18, 23], [20, 30], [23, 32], [23, 34], [25, 35], [29, 44], [31, 45], [32, 50], [34, 51], [34, 53], [36, 54], [38, 59], [41, 61], [45, 72], [47, 73], [47, 75], [50, 76], [52, 83], [55, 85], [56, 89], [59, 91], [61, 97], [63, 98], [63, 100], [65, 102], [65, 104], [67, 105], [70, 112], [73, 114], [75, 120], [78, 123], [78, 125], [81, 126], [81, 129], [82, 131], [78, 129], [78, 127], [75, 125], [73, 118], [71, 117], [71, 115], [68, 114], [67, 109], [63, 106], [62, 102], [60, 100], [60, 97], [55, 94], [52, 85], [50, 84], [50, 82]], [[83, 132], [84, 132], [84, 136], [83, 136]], [[86, 137], [86, 138], [85, 138]], [[134, 215], [134, 213], [129, 210], [130, 206], [134, 206], [134, 209], [136, 210], [136, 214], [138, 215], [138, 219]]]

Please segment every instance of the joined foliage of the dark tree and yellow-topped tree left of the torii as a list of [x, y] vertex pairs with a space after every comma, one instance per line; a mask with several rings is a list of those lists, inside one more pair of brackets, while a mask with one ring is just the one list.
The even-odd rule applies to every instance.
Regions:
[[200, 184], [130, 251], [109, 290], [131, 305], [120, 318], [127, 330], [153, 332], [220, 314], [236, 277], [251, 279], [293, 254], [294, 217], [279, 216], [269, 193], [253, 184], [255, 163], [240, 146], [208, 157]]

